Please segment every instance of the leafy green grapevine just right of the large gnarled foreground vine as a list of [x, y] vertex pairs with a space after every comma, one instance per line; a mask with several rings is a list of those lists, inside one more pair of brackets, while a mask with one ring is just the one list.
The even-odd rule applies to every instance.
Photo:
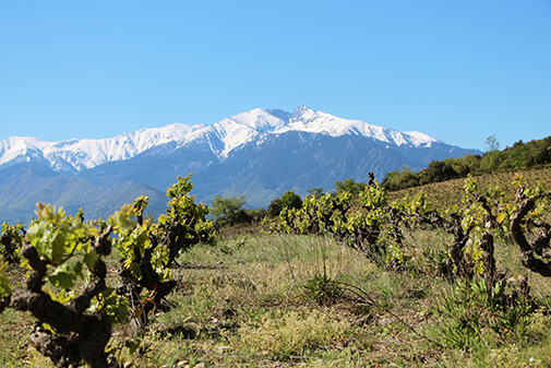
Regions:
[[[113, 245], [122, 257], [124, 290], [132, 314], [147, 323], [148, 313], [176, 287], [171, 268], [178, 256], [199, 242], [214, 245], [214, 223], [206, 218], [208, 209], [190, 195], [190, 177], [178, 178], [167, 190], [167, 213], [158, 222], [143, 219], [146, 198], [125, 205], [109, 217], [116, 238]], [[136, 217], [136, 221], [134, 221]], [[117, 308], [117, 306], [113, 306]]]

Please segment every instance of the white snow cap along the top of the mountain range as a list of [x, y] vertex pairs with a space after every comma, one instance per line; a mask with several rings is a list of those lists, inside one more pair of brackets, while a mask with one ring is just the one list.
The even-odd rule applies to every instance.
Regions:
[[332, 136], [361, 135], [395, 145], [430, 146], [436, 139], [419, 132], [398, 132], [360, 120], [347, 120], [314, 111], [306, 105], [292, 114], [256, 108], [226, 118], [211, 126], [173, 123], [163, 128], [141, 129], [103, 140], [46, 142], [35, 138], [9, 138], [0, 141], [0, 166], [22, 161], [49, 162], [57, 171], [80, 171], [107, 162], [122, 161], [154, 146], [175, 142], [173, 150], [188, 144], [207, 145], [220, 159], [236, 147], [260, 141], [266, 134], [288, 131], [321, 133]]

